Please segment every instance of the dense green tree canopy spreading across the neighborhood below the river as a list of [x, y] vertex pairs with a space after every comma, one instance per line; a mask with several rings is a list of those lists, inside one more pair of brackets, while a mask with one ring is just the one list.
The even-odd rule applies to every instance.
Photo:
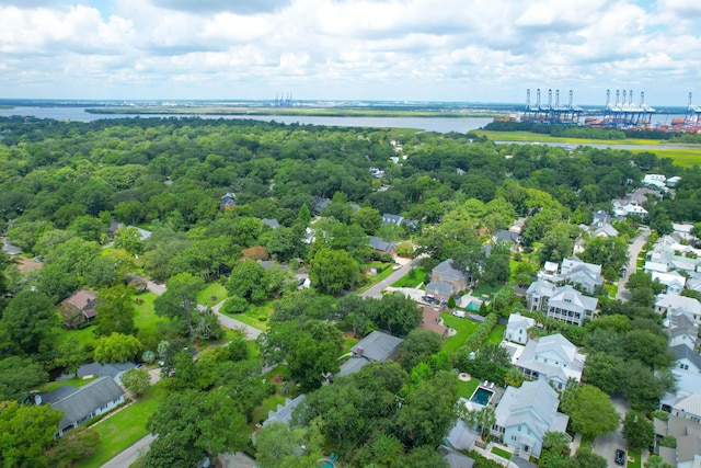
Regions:
[[[675, 196], [617, 222], [621, 237], [610, 242], [583, 233], [579, 225], [610, 213], [645, 173], [679, 175]], [[386, 214], [406, 222], [383, 222]], [[521, 217], [522, 252], [496, 242], [487, 255], [484, 244]], [[455, 370], [522, 381], [496, 346], [496, 319], [527, 313], [515, 288], [570, 256], [577, 239], [614, 287], [636, 229], [650, 226], [655, 238], [678, 221], [701, 222], [701, 170], [653, 152], [239, 119], [2, 117], [0, 227], [21, 253], [0, 255], [0, 434], [11, 434], [0, 438], [0, 463], [101, 466], [150, 432], [158, 438], [135, 466], [192, 467], [240, 450], [266, 467], [317, 467], [330, 454], [341, 466], [443, 467], [435, 449], [458, 397], [473, 390]], [[446, 259], [469, 267], [478, 292], [494, 297], [480, 310], [489, 327], [444, 313], [460, 329], [443, 342], [418, 329], [413, 300], [363, 297], [394, 266], [370, 236], [417, 259], [415, 285]], [[629, 303], [598, 290], [601, 318], [582, 328], [533, 316], [589, 353], [581, 388], [622, 391], [643, 413], [669, 387], [656, 286], [636, 277]], [[66, 305], [80, 290], [96, 294], [94, 318]], [[221, 327], [217, 313], [260, 336]], [[326, 385], [372, 330], [405, 339], [400, 362]], [[123, 379], [133, 402], [55, 438], [61, 415], [32, 404], [34, 393], [93, 361], [142, 364]], [[260, 427], [300, 393], [292, 424]], [[570, 389], [564, 408], [589, 398], [581, 393]], [[541, 466], [600, 466], [586, 465], [590, 450], [566, 461], [555, 452]]]

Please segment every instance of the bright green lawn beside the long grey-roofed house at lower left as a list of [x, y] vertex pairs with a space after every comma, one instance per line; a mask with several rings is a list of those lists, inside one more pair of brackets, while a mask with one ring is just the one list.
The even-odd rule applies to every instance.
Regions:
[[162, 385], [154, 385], [146, 390], [143, 397], [115, 415], [102, 420], [94, 426], [100, 434], [101, 443], [95, 454], [81, 460], [77, 468], [97, 468], [115, 455], [148, 434], [146, 422], [159, 404], [165, 399], [166, 391]]

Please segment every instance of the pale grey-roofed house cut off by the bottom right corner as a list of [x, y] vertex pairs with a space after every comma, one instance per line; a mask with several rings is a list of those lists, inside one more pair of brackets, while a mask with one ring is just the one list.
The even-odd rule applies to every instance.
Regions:
[[[699, 468], [701, 467], [701, 425], [688, 419], [669, 416], [669, 419], [654, 419], [655, 452], [673, 467]], [[659, 442], [663, 437], [673, 436], [677, 446], [663, 447]]]

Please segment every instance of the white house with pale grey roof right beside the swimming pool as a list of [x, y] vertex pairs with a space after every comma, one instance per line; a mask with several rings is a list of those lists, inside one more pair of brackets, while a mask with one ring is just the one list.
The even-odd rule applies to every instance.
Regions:
[[509, 386], [495, 410], [495, 438], [515, 449], [515, 455], [540, 457], [548, 432], [565, 432], [570, 416], [558, 411], [558, 392], [545, 380]]

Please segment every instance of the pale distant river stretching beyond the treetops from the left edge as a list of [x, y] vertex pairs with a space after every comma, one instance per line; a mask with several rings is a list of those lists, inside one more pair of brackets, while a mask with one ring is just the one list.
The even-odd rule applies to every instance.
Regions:
[[425, 132], [447, 134], [450, 132], [467, 133], [484, 127], [492, 122], [491, 117], [333, 117], [301, 115], [152, 115], [152, 114], [89, 114], [85, 107], [15, 107], [0, 110], [0, 116], [33, 116], [55, 118], [57, 121], [93, 122], [103, 118], [169, 118], [199, 117], [225, 119], [252, 119], [261, 122], [278, 122], [281, 124], [325, 125], [338, 127], [376, 127], [376, 128], [418, 128]]

